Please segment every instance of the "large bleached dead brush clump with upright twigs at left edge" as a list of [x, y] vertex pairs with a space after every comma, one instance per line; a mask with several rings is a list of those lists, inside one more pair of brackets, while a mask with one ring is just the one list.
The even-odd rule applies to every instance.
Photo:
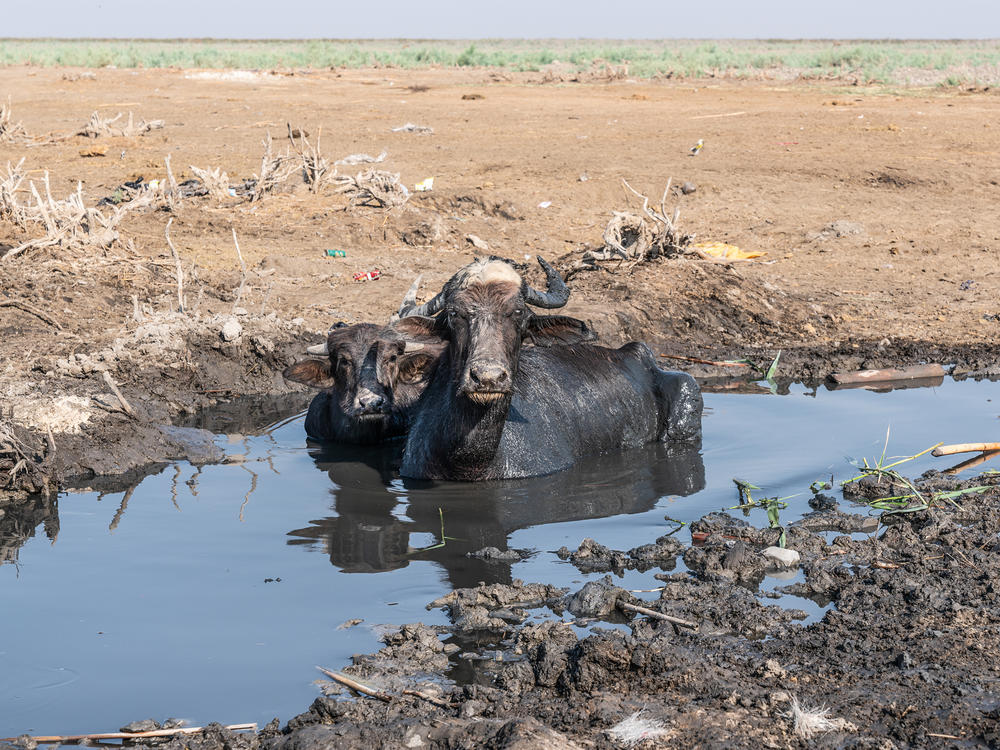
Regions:
[[[15, 168], [15, 171], [19, 167], [20, 165]], [[11, 173], [8, 180], [14, 180], [15, 177], [16, 175]], [[42, 180], [44, 198], [39, 194], [33, 182], [29, 185], [34, 204], [21, 206], [17, 202], [16, 195], [12, 192], [6, 204], [0, 203], [0, 205], [4, 205], [4, 208], [0, 208], [0, 216], [5, 215], [5, 213], [13, 215], [16, 212], [26, 226], [41, 225], [45, 229], [45, 235], [11, 248], [3, 256], [0, 256], [0, 260], [9, 260], [26, 250], [43, 247], [59, 246], [67, 250], [109, 248], [118, 240], [118, 225], [128, 212], [152, 205], [155, 201], [163, 198], [162, 190], [147, 189], [128, 203], [111, 206], [110, 212], [105, 212], [99, 208], [86, 206], [83, 202], [82, 186], [79, 183], [77, 183], [76, 192], [71, 193], [66, 200], [61, 201], [52, 197], [48, 172], [45, 173]], [[0, 190], [0, 195], [3, 195], [2, 190]], [[2, 200], [0, 198], [0, 201]]]

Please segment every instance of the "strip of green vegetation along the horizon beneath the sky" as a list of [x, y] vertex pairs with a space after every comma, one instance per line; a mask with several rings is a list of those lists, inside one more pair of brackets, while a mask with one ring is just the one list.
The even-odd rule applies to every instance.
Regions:
[[[611, 66], [637, 78], [836, 78], [896, 84], [1000, 81], [1000, 42], [781, 40], [94, 40], [0, 39], [0, 65], [100, 68]], [[922, 72], [922, 74], [917, 74]], [[931, 75], [928, 75], [930, 73]]]

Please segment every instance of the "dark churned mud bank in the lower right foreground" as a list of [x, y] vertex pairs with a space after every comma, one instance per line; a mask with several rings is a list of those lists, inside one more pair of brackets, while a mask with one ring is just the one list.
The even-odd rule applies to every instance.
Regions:
[[[991, 489], [880, 519], [821, 495], [817, 510], [787, 529], [801, 576], [778, 593], [760, 589], [775, 571], [762, 550], [778, 532], [725, 513], [694, 524], [700, 546], [666, 536], [616, 551], [586, 540], [560, 554], [582, 571], [610, 571], [604, 579], [577, 592], [521, 581], [456, 590], [428, 605], [445, 607], [451, 627], [405, 625], [378, 653], [354, 657], [343, 674], [375, 697], [351, 697], [331, 682], [284, 727], [238, 734], [212, 726], [164, 745], [996, 746], [1000, 480], [929, 472], [916, 484], [928, 493]], [[678, 559], [686, 570], [670, 572]], [[640, 601], [616, 585], [628, 567], [658, 579], [649, 587], [655, 598]], [[802, 625], [804, 612], [768, 601], [779, 593], [832, 606]], [[653, 614], [633, 615], [636, 604]], [[462, 684], [451, 679], [458, 675]]]

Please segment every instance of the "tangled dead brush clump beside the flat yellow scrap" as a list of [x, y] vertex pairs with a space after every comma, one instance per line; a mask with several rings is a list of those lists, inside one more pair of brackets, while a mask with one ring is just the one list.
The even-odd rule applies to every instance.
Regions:
[[633, 195], [642, 199], [642, 214], [629, 211], [613, 211], [611, 220], [604, 229], [604, 245], [597, 250], [587, 250], [583, 257], [571, 268], [577, 271], [596, 271], [600, 261], [618, 260], [626, 263], [631, 270], [639, 263], [668, 258], [688, 252], [694, 235], [684, 234], [677, 229], [680, 208], [674, 207], [667, 214], [666, 202], [670, 194], [671, 180], [660, 198], [659, 210], [649, 205], [649, 198], [637, 191], [627, 180], [622, 184]]

